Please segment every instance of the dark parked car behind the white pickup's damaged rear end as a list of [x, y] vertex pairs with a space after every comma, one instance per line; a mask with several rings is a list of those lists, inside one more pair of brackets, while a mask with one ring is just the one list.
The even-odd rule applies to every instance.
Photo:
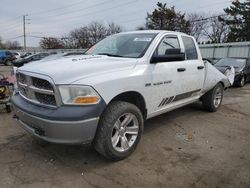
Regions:
[[220, 59], [214, 65], [223, 74], [230, 69], [235, 69], [234, 85], [243, 87], [246, 82], [250, 81], [250, 59], [249, 58], [225, 58]]

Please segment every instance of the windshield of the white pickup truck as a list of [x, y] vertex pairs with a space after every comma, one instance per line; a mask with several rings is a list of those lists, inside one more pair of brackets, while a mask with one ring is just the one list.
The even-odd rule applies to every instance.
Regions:
[[91, 47], [86, 54], [139, 58], [145, 54], [156, 35], [155, 33], [112, 35]]

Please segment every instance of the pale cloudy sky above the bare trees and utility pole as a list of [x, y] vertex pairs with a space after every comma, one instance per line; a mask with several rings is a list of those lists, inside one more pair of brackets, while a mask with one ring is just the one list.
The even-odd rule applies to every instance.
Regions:
[[39, 46], [39, 37], [61, 37], [92, 21], [114, 22], [131, 31], [145, 24], [147, 12], [158, 1], [182, 13], [203, 15], [223, 13], [231, 4], [231, 0], [1, 0], [0, 37], [23, 45], [23, 15], [30, 47]]

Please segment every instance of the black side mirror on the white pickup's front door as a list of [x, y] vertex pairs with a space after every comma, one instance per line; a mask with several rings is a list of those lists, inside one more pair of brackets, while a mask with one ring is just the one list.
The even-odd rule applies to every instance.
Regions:
[[167, 49], [165, 55], [154, 54], [150, 60], [150, 63], [162, 63], [170, 61], [184, 61], [185, 53], [181, 52], [181, 49], [173, 48]]

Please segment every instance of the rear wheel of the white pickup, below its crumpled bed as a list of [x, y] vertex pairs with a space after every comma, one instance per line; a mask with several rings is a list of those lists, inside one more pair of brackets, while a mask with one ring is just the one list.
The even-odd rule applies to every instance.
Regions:
[[218, 83], [213, 89], [202, 96], [203, 107], [209, 112], [216, 112], [222, 103], [223, 90], [222, 84]]

